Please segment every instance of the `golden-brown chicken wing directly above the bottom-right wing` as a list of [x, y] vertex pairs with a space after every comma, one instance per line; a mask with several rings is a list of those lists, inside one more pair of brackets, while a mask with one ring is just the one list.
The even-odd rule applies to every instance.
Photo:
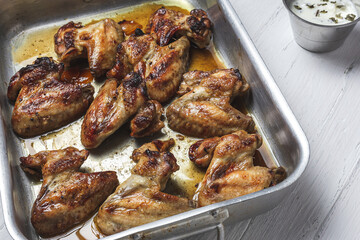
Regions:
[[254, 131], [250, 116], [230, 105], [249, 85], [238, 70], [192, 71], [183, 75], [182, 97], [167, 109], [169, 127], [193, 137], [222, 136], [237, 130]]

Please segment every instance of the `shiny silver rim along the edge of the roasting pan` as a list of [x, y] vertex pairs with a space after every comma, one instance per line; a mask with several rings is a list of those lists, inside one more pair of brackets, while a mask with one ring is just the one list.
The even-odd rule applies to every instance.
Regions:
[[[126, 236], [130, 236], [132, 234], [136, 234], [138, 232], [149, 231], [154, 228], [159, 228], [164, 225], [175, 224], [176, 222], [181, 222], [188, 218], [196, 218], [201, 214], [205, 214], [216, 209], [226, 208], [230, 205], [249, 201], [258, 198], [260, 196], [264, 196], [273, 192], [284, 190], [290, 187], [291, 185], [293, 185], [300, 178], [300, 176], [302, 175], [308, 164], [310, 157], [310, 147], [306, 135], [302, 130], [300, 124], [296, 120], [293, 112], [291, 111], [289, 105], [287, 104], [285, 98], [283, 97], [280, 89], [276, 85], [270, 71], [266, 67], [254, 43], [252, 42], [247, 31], [245, 30], [245, 27], [241, 23], [239, 16], [236, 14], [229, 0], [215, 0], [215, 1], [218, 3], [221, 10], [224, 11], [224, 16], [226, 17], [226, 19], [230, 21], [231, 24], [233, 25], [232, 28], [235, 34], [238, 36], [239, 41], [241, 41], [242, 46], [244, 47], [244, 49], [246, 49], [249, 60], [251, 62], [257, 63], [256, 65], [254, 65], [254, 68], [256, 72], [259, 74], [262, 82], [264, 83], [266, 91], [271, 95], [272, 100], [274, 100], [274, 102], [277, 104], [279, 108], [279, 112], [282, 114], [283, 119], [287, 122], [289, 127], [295, 133], [296, 138], [299, 142], [300, 159], [298, 161], [298, 165], [296, 166], [296, 168], [294, 168], [294, 171], [283, 182], [281, 182], [276, 186], [272, 186], [270, 188], [258, 192], [254, 192], [251, 194], [247, 194], [241, 197], [237, 197], [234, 199], [230, 199], [227, 201], [215, 203], [209, 206], [193, 209], [167, 218], [163, 218], [155, 222], [137, 226], [135, 228], [131, 228], [126, 231], [104, 237], [103, 239], [106, 240], [119, 239]], [[0, 174], [2, 180], [0, 181], [0, 191], [1, 191], [3, 215], [4, 215], [6, 228], [10, 233], [10, 235], [14, 239], [26, 239], [26, 237], [19, 230], [14, 217], [15, 216], [14, 205], [13, 205], [14, 197], [12, 194], [14, 183], [12, 180], [13, 172], [11, 172], [11, 167], [13, 166], [8, 159], [5, 134], [6, 133], [5, 133], [4, 121], [0, 121]]]

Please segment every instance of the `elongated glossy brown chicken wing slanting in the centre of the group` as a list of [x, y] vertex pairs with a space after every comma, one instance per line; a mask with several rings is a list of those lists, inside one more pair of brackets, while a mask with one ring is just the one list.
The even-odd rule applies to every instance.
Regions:
[[85, 114], [81, 126], [81, 142], [86, 148], [96, 148], [138, 112], [147, 101], [145, 82], [135, 72], [119, 85], [108, 79]]

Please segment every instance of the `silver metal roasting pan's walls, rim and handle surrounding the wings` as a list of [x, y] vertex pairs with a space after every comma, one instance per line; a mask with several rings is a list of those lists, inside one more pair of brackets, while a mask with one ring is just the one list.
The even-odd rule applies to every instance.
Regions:
[[[11, 106], [7, 84], [15, 69], [11, 40], [21, 32], [44, 24], [64, 22], [109, 10], [120, 9], [144, 0], [0, 0], [0, 187], [6, 226], [14, 239], [37, 239], [29, 221], [33, 196], [30, 182], [19, 168], [22, 149], [10, 125]], [[154, 1], [153, 1], [154, 2]], [[309, 158], [305, 134], [276, 86], [247, 32], [228, 0], [187, 0], [207, 11], [214, 23], [214, 44], [227, 67], [239, 68], [251, 85], [247, 102], [262, 136], [288, 177], [280, 184], [242, 197], [191, 210], [153, 223], [106, 237], [106, 239], [183, 238], [222, 224], [239, 222], [274, 208], [292, 189]]]

